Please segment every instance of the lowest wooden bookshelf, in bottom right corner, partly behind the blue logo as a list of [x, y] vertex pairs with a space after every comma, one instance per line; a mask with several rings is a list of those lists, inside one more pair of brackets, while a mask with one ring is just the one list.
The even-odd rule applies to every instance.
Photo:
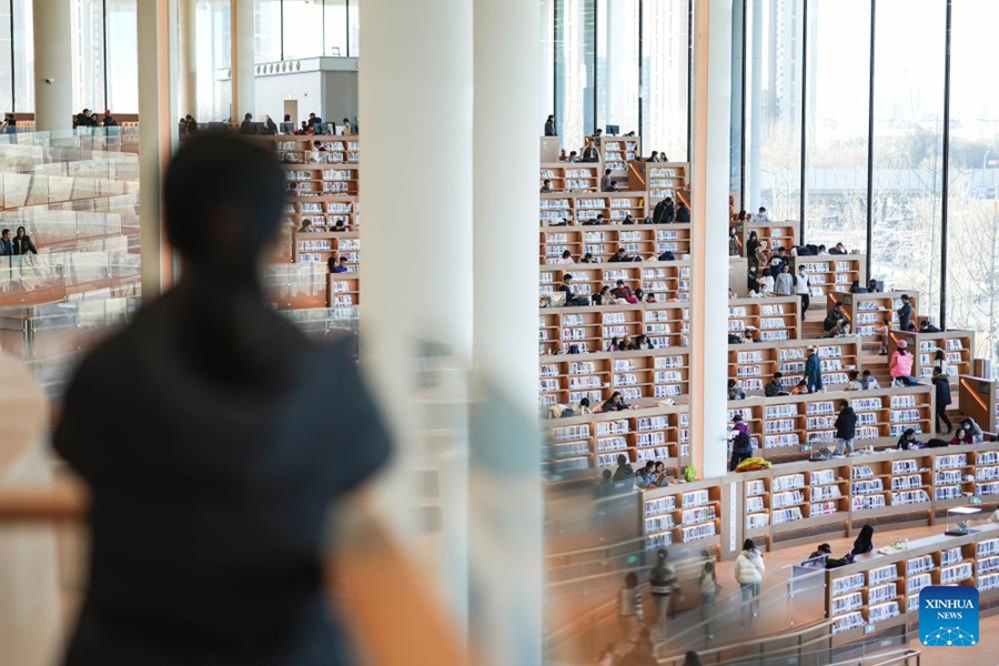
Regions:
[[930, 585], [977, 587], [991, 598], [999, 589], [999, 527], [966, 536], [934, 535], [898, 552], [864, 557], [827, 569], [826, 617], [833, 644], [846, 645], [918, 623], [919, 592]]

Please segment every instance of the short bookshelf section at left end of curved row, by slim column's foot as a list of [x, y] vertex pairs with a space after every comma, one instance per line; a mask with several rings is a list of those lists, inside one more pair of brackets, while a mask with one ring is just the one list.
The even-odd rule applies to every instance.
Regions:
[[643, 491], [640, 496], [647, 549], [674, 544], [720, 545], [723, 492], [717, 481], [677, 483]]

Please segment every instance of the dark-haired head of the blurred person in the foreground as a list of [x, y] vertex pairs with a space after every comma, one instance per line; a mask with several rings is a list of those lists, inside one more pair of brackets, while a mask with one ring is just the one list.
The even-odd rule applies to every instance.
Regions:
[[285, 183], [262, 147], [222, 132], [192, 138], [163, 181], [170, 243], [195, 272], [255, 282], [281, 222]]

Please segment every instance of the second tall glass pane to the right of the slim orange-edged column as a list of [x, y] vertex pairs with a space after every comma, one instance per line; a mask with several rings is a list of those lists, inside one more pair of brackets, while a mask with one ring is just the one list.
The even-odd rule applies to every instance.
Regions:
[[[844, 38], [850, 48], [844, 49]], [[870, 0], [809, 0], [808, 243], [867, 246]]]

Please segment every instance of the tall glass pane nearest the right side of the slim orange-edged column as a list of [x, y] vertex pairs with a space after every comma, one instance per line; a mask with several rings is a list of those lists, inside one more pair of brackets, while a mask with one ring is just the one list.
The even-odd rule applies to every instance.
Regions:
[[797, 220], [801, 181], [801, 0], [753, 0], [747, 31], [747, 205]]

